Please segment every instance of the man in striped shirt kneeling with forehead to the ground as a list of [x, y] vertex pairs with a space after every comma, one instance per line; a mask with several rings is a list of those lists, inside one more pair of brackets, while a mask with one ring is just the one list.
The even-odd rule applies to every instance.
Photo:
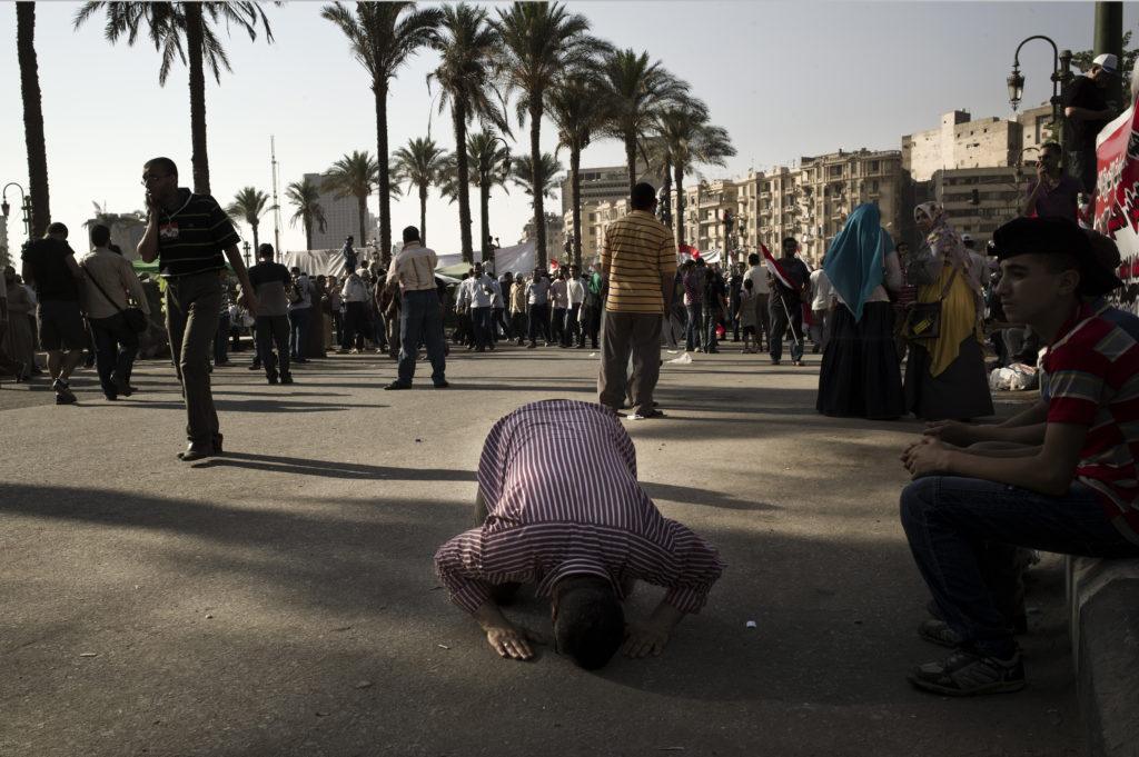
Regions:
[[[659, 655], [724, 567], [714, 546], [661, 515], [637, 483], [616, 413], [588, 402], [535, 402], [494, 425], [478, 461], [475, 521], [439, 549], [435, 568], [491, 648], [519, 660], [543, 640], [499, 609], [518, 584], [552, 596], [557, 650], [593, 669], [618, 648]], [[667, 592], [644, 624], [626, 627], [621, 600], [636, 579]]]

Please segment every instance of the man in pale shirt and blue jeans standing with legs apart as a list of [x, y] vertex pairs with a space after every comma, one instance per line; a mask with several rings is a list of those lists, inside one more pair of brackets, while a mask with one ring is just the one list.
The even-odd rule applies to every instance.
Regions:
[[403, 230], [403, 249], [392, 258], [387, 271], [390, 290], [399, 286], [403, 290], [400, 301], [400, 368], [394, 381], [385, 389], [410, 389], [416, 375], [416, 351], [419, 337], [427, 345], [431, 360], [431, 380], [436, 389], [448, 386], [446, 359], [443, 353], [443, 305], [435, 290], [435, 250], [419, 242], [419, 229]]

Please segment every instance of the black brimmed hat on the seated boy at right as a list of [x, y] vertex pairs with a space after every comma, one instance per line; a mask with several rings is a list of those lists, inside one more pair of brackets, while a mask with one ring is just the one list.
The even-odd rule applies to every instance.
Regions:
[[1001, 261], [1026, 254], [1074, 255], [1080, 261], [1080, 291], [1090, 297], [1123, 285], [1100, 264], [1083, 230], [1067, 219], [1014, 219], [993, 232], [992, 245]]

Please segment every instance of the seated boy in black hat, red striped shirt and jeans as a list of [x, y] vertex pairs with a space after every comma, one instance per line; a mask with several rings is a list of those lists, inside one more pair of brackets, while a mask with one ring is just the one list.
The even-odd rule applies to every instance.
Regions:
[[993, 244], [1006, 313], [1048, 344], [1042, 441], [974, 451], [926, 435], [902, 453], [915, 479], [902, 492], [902, 526], [958, 639], [952, 655], [913, 668], [909, 680], [950, 696], [1024, 686], [1010, 619], [981, 565], [986, 544], [1139, 557], [1139, 347], [1084, 299], [1118, 280], [1063, 219], [1017, 219], [997, 230]]

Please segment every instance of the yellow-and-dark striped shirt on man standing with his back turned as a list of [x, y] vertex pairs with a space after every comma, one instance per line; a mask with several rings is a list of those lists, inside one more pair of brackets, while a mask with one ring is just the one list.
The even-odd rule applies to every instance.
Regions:
[[677, 273], [672, 230], [648, 211], [633, 211], [605, 230], [601, 270], [609, 279], [605, 310], [663, 314], [661, 280]]

